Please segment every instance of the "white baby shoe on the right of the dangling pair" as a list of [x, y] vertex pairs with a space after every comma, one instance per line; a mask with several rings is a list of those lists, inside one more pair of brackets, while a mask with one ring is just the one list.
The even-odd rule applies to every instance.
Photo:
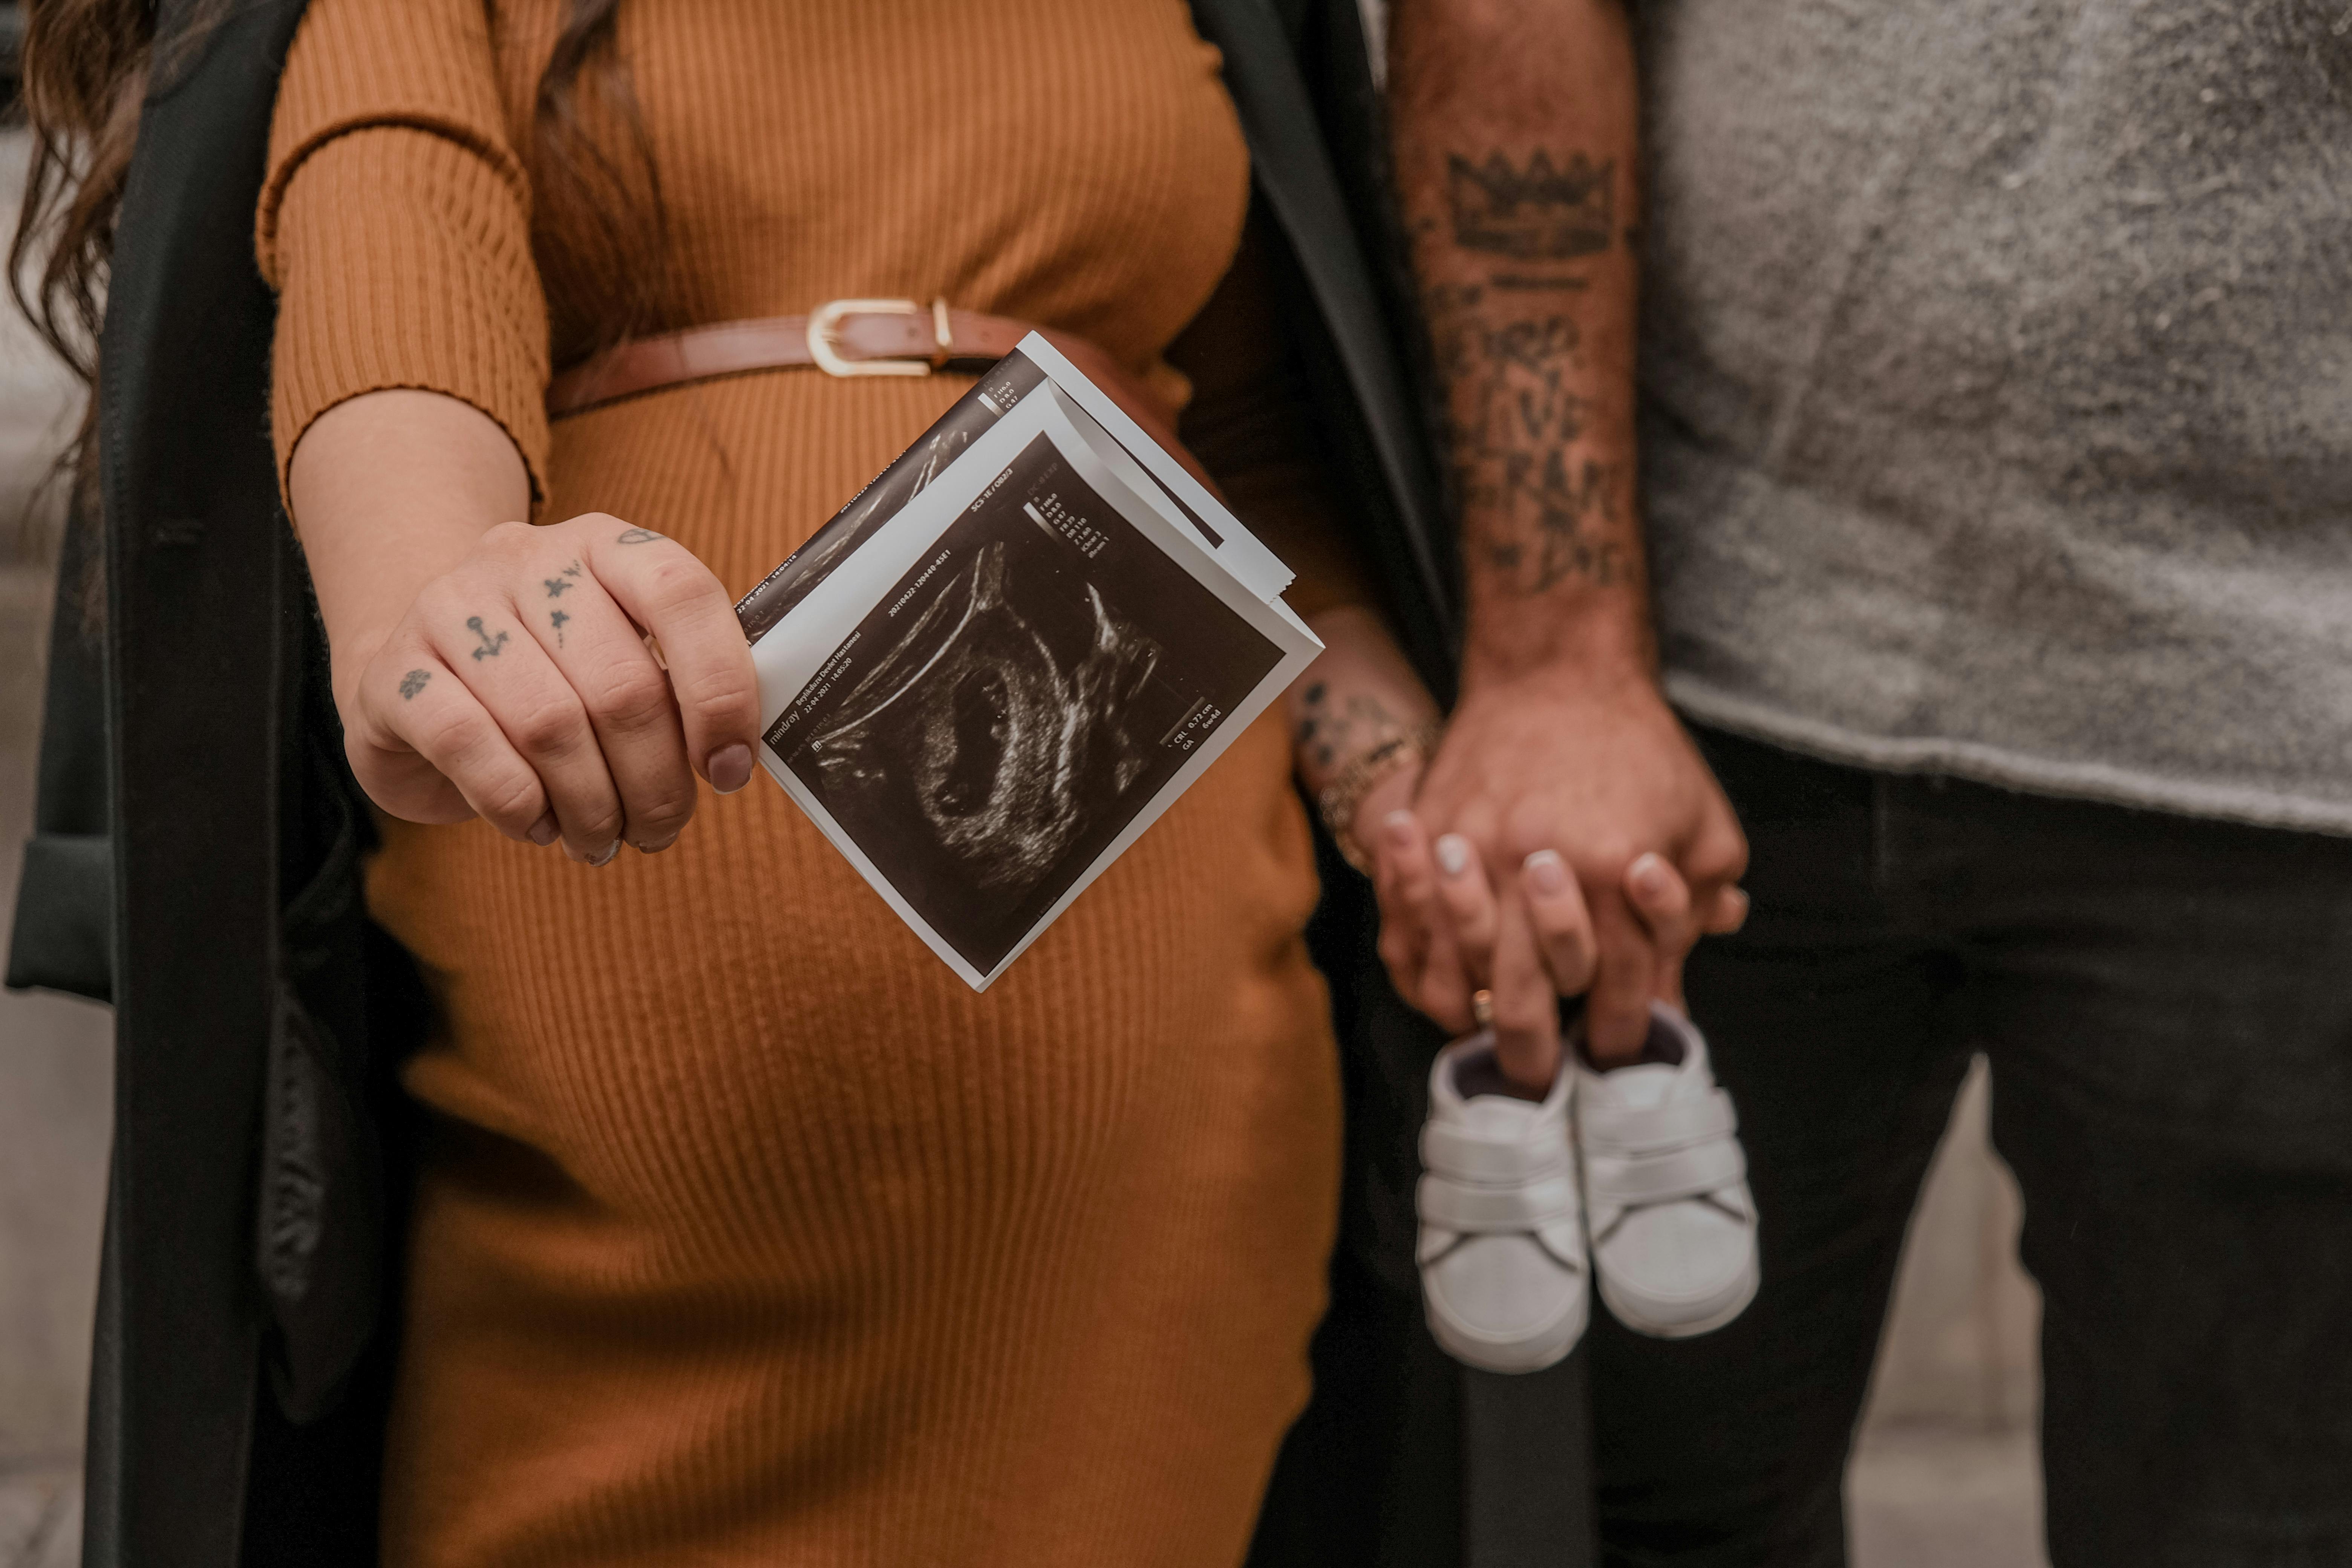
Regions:
[[1562, 1077], [1576, 1077], [1602, 1300], [1628, 1328], [1679, 1340], [1722, 1328], [1755, 1300], [1757, 1206], [1708, 1041], [1670, 1006], [1653, 1001], [1649, 1013], [1639, 1063], [1597, 1072], [1578, 1034]]

